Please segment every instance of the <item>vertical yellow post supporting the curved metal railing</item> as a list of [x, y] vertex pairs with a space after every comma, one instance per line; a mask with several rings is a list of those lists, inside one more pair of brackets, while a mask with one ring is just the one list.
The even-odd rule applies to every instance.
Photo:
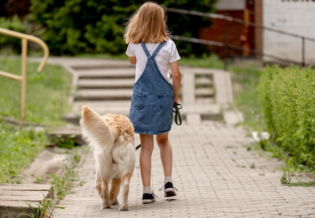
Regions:
[[22, 39], [22, 88], [21, 88], [21, 120], [25, 120], [25, 102], [26, 102], [26, 57], [27, 57], [27, 39]]

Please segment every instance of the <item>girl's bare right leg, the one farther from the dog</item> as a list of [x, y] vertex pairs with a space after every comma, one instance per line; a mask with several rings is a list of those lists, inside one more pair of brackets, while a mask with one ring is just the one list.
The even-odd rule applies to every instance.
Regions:
[[172, 176], [172, 147], [169, 141], [169, 132], [156, 135], [156, 142], [160, 148], [160, 156], [165, 177]]

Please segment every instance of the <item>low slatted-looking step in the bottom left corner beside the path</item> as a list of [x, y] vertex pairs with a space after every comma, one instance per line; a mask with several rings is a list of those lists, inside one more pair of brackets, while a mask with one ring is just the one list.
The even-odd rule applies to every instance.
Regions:
[[27, 203], [37, 209], [44, 198], [54, 198], [52, 185], [0, 184], [0, 218], [16, 218], [21, 212], [34, 215]]

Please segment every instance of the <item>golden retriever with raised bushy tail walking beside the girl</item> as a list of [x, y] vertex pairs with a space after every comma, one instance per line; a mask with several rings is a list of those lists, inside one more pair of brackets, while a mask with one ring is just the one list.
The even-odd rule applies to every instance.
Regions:
[[109, 113], [101, 116], [84, 105], [80, 127], [83, 139], [94, 153], [95, 188], [103, 199], [101, 208], [118, 204], [117, 196], [122, 186], [119, 210], [128, 210], [129, 183], [135, 165], [132, 123], [126, 116]]

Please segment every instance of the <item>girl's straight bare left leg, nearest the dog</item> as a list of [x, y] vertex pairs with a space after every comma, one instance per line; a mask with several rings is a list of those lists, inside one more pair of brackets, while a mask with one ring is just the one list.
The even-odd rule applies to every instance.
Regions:
[[143, 187], [151, 186], [151, 156], [153, 152], [153, 135], [140, 134], [140, 172]]

